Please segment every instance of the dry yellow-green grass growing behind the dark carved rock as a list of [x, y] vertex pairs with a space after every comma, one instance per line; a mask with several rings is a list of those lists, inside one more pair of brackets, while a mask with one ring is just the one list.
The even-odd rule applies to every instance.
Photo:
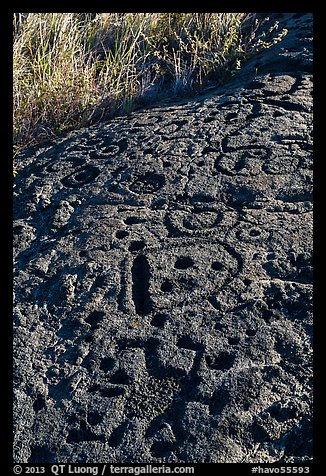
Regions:
[[14, 146], [222, 84], [251, 53], [245, 13], [29, 13], [14, 17]]

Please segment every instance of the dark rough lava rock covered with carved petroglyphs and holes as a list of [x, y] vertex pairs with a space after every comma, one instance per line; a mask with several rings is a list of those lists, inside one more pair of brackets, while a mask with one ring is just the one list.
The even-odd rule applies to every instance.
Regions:
[[16, 462], [311, 460], [312, 18], [275, 19], [226, 86], [20, 156]]

